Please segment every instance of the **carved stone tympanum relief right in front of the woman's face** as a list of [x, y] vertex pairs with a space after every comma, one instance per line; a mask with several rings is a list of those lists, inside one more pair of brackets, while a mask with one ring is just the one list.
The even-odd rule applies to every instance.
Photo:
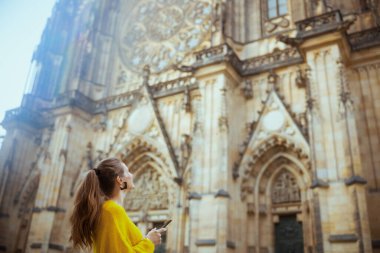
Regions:
[[152, 167], [136, 178], [136, 188], [128, 194], [124, 207], [129, 211], [163, 210], [169, 207], [168, 187]]

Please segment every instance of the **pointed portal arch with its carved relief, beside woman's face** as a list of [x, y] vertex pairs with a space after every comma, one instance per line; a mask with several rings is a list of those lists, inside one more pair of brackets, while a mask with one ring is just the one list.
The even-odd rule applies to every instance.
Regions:
[[[135, 189], [123, 203], [126, 210], [139, 222], [147, 222], [148, 216], [159, 212], [168, 216], [175, 205], [177, 187], [174, 182], [176, 171], [159, 149], [143, 137], [129, 142], [116, 153], [117, 157], [134, 174]], [[169, 216], [168, 216], [169, 217]]]

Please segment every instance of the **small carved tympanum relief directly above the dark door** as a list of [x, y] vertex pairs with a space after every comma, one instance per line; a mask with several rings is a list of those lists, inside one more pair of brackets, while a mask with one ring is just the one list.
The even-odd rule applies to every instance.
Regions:
[[301, 201], [300, 189], [295, 177], [288, 171], [283, 171], [275, 180], [272, 189], [274, 204]]

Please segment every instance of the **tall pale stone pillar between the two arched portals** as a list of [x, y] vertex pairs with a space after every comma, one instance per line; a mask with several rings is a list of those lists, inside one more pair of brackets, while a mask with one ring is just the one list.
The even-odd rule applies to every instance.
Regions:
[[190, 196], [190, 252], [227, 252], [227, 79], [225, 73], [218, 72], [207, 73], [198, 80], [202, 100], [197, 113], [202, 115], [202, 122], [198, 130], [201, 134], [196, 132], [193, 141], [193, 189], [196, 192]]

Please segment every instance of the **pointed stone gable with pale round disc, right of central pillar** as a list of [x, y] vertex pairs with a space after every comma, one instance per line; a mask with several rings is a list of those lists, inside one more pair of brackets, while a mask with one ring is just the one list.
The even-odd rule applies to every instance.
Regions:
[[235, 174], [243, 175], [243, 178], [247, 176], [257, 162], [269, 159], [274, 154], [269, 150], [286, 151], [300, 161], [307, 161], [310, 155], [308, 140], [295, 115], [275, 90], [268, 94], [264, 102], [258, 121], [236, 163]]

